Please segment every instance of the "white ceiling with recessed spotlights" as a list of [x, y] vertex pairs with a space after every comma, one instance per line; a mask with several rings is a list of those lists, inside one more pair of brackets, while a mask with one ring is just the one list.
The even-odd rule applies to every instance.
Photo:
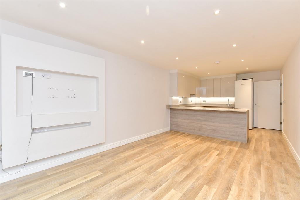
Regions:
[[280, 70], [300, 36], [299, 1], [59, 2], [2, 0], [1, 18], [200, 77]]

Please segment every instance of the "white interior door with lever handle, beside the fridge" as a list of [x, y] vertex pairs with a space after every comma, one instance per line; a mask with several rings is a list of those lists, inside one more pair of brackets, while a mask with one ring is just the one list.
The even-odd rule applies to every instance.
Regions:
[[280, 130], [280, 80], [254, 82], [254, 127]]

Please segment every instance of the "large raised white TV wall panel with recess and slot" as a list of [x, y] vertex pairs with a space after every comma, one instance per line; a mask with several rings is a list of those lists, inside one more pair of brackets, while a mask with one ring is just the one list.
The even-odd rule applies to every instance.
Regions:
[[[1, 35], [1, 58], [4, 169], [25, 163], [27, 157], [32, 78], [21, 76], [24, 69], [36, 73], [32, 128], [88, 122], [87, 126], [33, 134], [28, 162], [105, 141], [104, 59], [5, 34]], [[51, 79], [40, 78], [40, 73], [50, 73]]]

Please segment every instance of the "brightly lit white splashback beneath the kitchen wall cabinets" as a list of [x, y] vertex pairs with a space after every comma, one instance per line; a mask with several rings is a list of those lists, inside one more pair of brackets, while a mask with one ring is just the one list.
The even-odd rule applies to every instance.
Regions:
[[[234, 104], [234, 97], [170, 97], [170, 105], [189, 104], [189, 103], [228, 103]], [[181, 102], [180, 102], [181, 101]], [[193, 101], [193, 102], [191, 102]], [[203, 102], [205, 101], [205, 102]]]

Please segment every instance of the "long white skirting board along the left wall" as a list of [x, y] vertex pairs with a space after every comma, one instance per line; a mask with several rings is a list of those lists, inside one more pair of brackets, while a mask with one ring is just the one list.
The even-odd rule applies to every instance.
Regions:
[[[53, 157], [50, 157], [50, 158], [46, 158], [46, 161], [43, 161], [44, 159], [33, 161], [33, 162], [28, 163], [26, 165], [26, 166], [28, 166], [28, 168], [25, 167], [21, 172], [19, 172], [17, 174], [13, 174], [13, 175], [7, 174], [7, 173], [5, 173], [1, 170], [0, 183], [4, 183], [6, 181], [10, 181], [10, 180], [13, 180], [13, 179], [16, 179], [16, 178], [20, 178], [22, 176], [26, 176], [26, 175], [29, 175], [29, 174], [33, 174], [35, 172], [40, 172], [42, 170], [49, 169], [51, 167], [62, 165], [64, 163], [68, 163], [68, 162], [71, 162], [73, 160], [77, 160], [77, 159], [80, 159], [80, 158], [83, 158], [83, 157], [87, 157], [87, 156], [90, 156], [90, 155], [93, 155], [93, 154], [97, 154], [97, 153], [100, 153], [100, 152], [103, 152], [103, 151], [107, 151], [109, 149], [113, 149], [113, 148], [116, 148], [116, 147], [119, 147], [119, 146], [122, 146], [122, 145], [126, 145], [126, 144], [129, 144], [131, 142], [135, 142], [135, 141], [138, 141], [138, 140], [150, 137], [150, 136], [157, 135], [159, 133], [164, 133], [164, 132], [169, 131], [169, 130], [170, 130], [170, 127], [167, 127], [167, 128], [152, 131], [150, 133], [146, 133], [146, 134], [143, 134], [143, 135], [140, 135], [140, 136], [135, 136], [135, 137], [132, 137], [132, 138], [129, 138], [129, 139], [121, 140], [119, 142], [114, 142], [114, 143], [111, 143], [111, 144], [102, 145], [100, 147], [99, 147], [99, 145], [95, 145], [95, 146], [92, 146], [92, 147], [87, 147], [87, 148], [90, 148], [90, 149], [88, 149], [88, 151], [86, 150], [86, 148], [79, 149], [79, 150], [76, 150], [76, 153], [73, 154], [73, 155], [67, 155], [67, 156], [64, 156], [63, 154], [62, 155], [57, 155], [57, 157], [60, 157], [59, 159], [57, 159], [56, 156], [53, 156]], [[71, 154], [71, 152], [68, 152], [66, 154]], [[21, 165], [21, 167], [22, 167], [22, 165]], [[8, 171], [8, 170], [5, 169], [5, 171]], [[8, 172], [10, 172], [10, 171], [8, 171]]]

